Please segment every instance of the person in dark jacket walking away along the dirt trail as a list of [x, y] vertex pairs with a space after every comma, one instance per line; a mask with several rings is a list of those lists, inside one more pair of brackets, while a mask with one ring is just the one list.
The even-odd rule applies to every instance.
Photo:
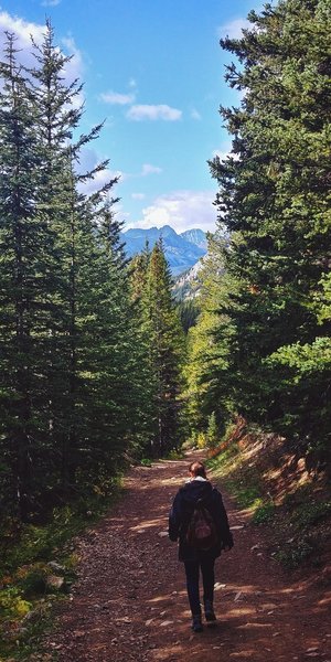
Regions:
[[184, 563], [186, 588], [192, 612], [192, 629], [202, 632], [199, 591], [200, 570], [207, 624], [215, 624], [214, 564], [222, 549], [233, 547], [227, 514], [222, 495], [206, 478], [202, 462], [189, 467], [190, 479], [178, 491], [169, 515], [169, 537], [179, 540], [179, 559]]

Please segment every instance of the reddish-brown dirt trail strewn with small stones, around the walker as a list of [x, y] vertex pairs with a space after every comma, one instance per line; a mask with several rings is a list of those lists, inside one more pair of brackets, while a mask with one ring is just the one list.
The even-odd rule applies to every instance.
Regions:
[[79, 580], [43, 660], [331, 662], [325, 576], [291, 583], [224, 494], [235, 547], [216, 562], [218, 624], [192, 633], [183, 567], [166, 535], [191, 459], [132, 469], [116, 510], [78, 542]]

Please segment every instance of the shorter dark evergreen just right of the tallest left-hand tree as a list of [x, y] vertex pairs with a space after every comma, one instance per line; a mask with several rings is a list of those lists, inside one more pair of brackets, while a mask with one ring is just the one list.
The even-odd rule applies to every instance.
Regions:
[[94, 256], [81, 274], [78, 369], [85, 416], [79, 438], [84, 438], [85, 461], [81, 458], [79, 466], [89, 478], [115, 473], [137, 429], [137, 348], [121, 226], [111, 211], [113, 202], [98, 211]]

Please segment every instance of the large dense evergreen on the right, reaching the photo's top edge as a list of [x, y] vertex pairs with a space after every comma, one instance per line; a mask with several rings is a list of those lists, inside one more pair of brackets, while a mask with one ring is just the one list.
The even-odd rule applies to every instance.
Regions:
[[241, 40], [222, 42], [239, 58], [227, 81], [244, 97], [241, 108], [221, 109], [233, 152], [211, 163], [232, 233], [225, 267], [237, 279], [223, 307], [235, 328], [235, 401], [249, 418], [310, 439], [311, 384], [301, 382], [310, 410], [302, 417], [302, 388], [293, 376], [288, 397], [289, 373], [279, 386], [275, 363], [287, 355], [290, 370], [291, 352], [281, 348], [313, 346], [329, 334], [311, 301], [330, 259], [330, 4], [281, 0], [249, 20]]

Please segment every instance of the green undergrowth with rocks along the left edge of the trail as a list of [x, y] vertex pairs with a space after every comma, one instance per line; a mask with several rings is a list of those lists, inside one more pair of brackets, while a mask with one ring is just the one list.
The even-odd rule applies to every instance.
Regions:
[[120, 500], [121, 476], [107, 492], [81, 495], [42, 524], [8, 523], [0, 541], [0, 661], [25, 660], [52, 627], [53, 608], [71, 595], [75, 540]]

